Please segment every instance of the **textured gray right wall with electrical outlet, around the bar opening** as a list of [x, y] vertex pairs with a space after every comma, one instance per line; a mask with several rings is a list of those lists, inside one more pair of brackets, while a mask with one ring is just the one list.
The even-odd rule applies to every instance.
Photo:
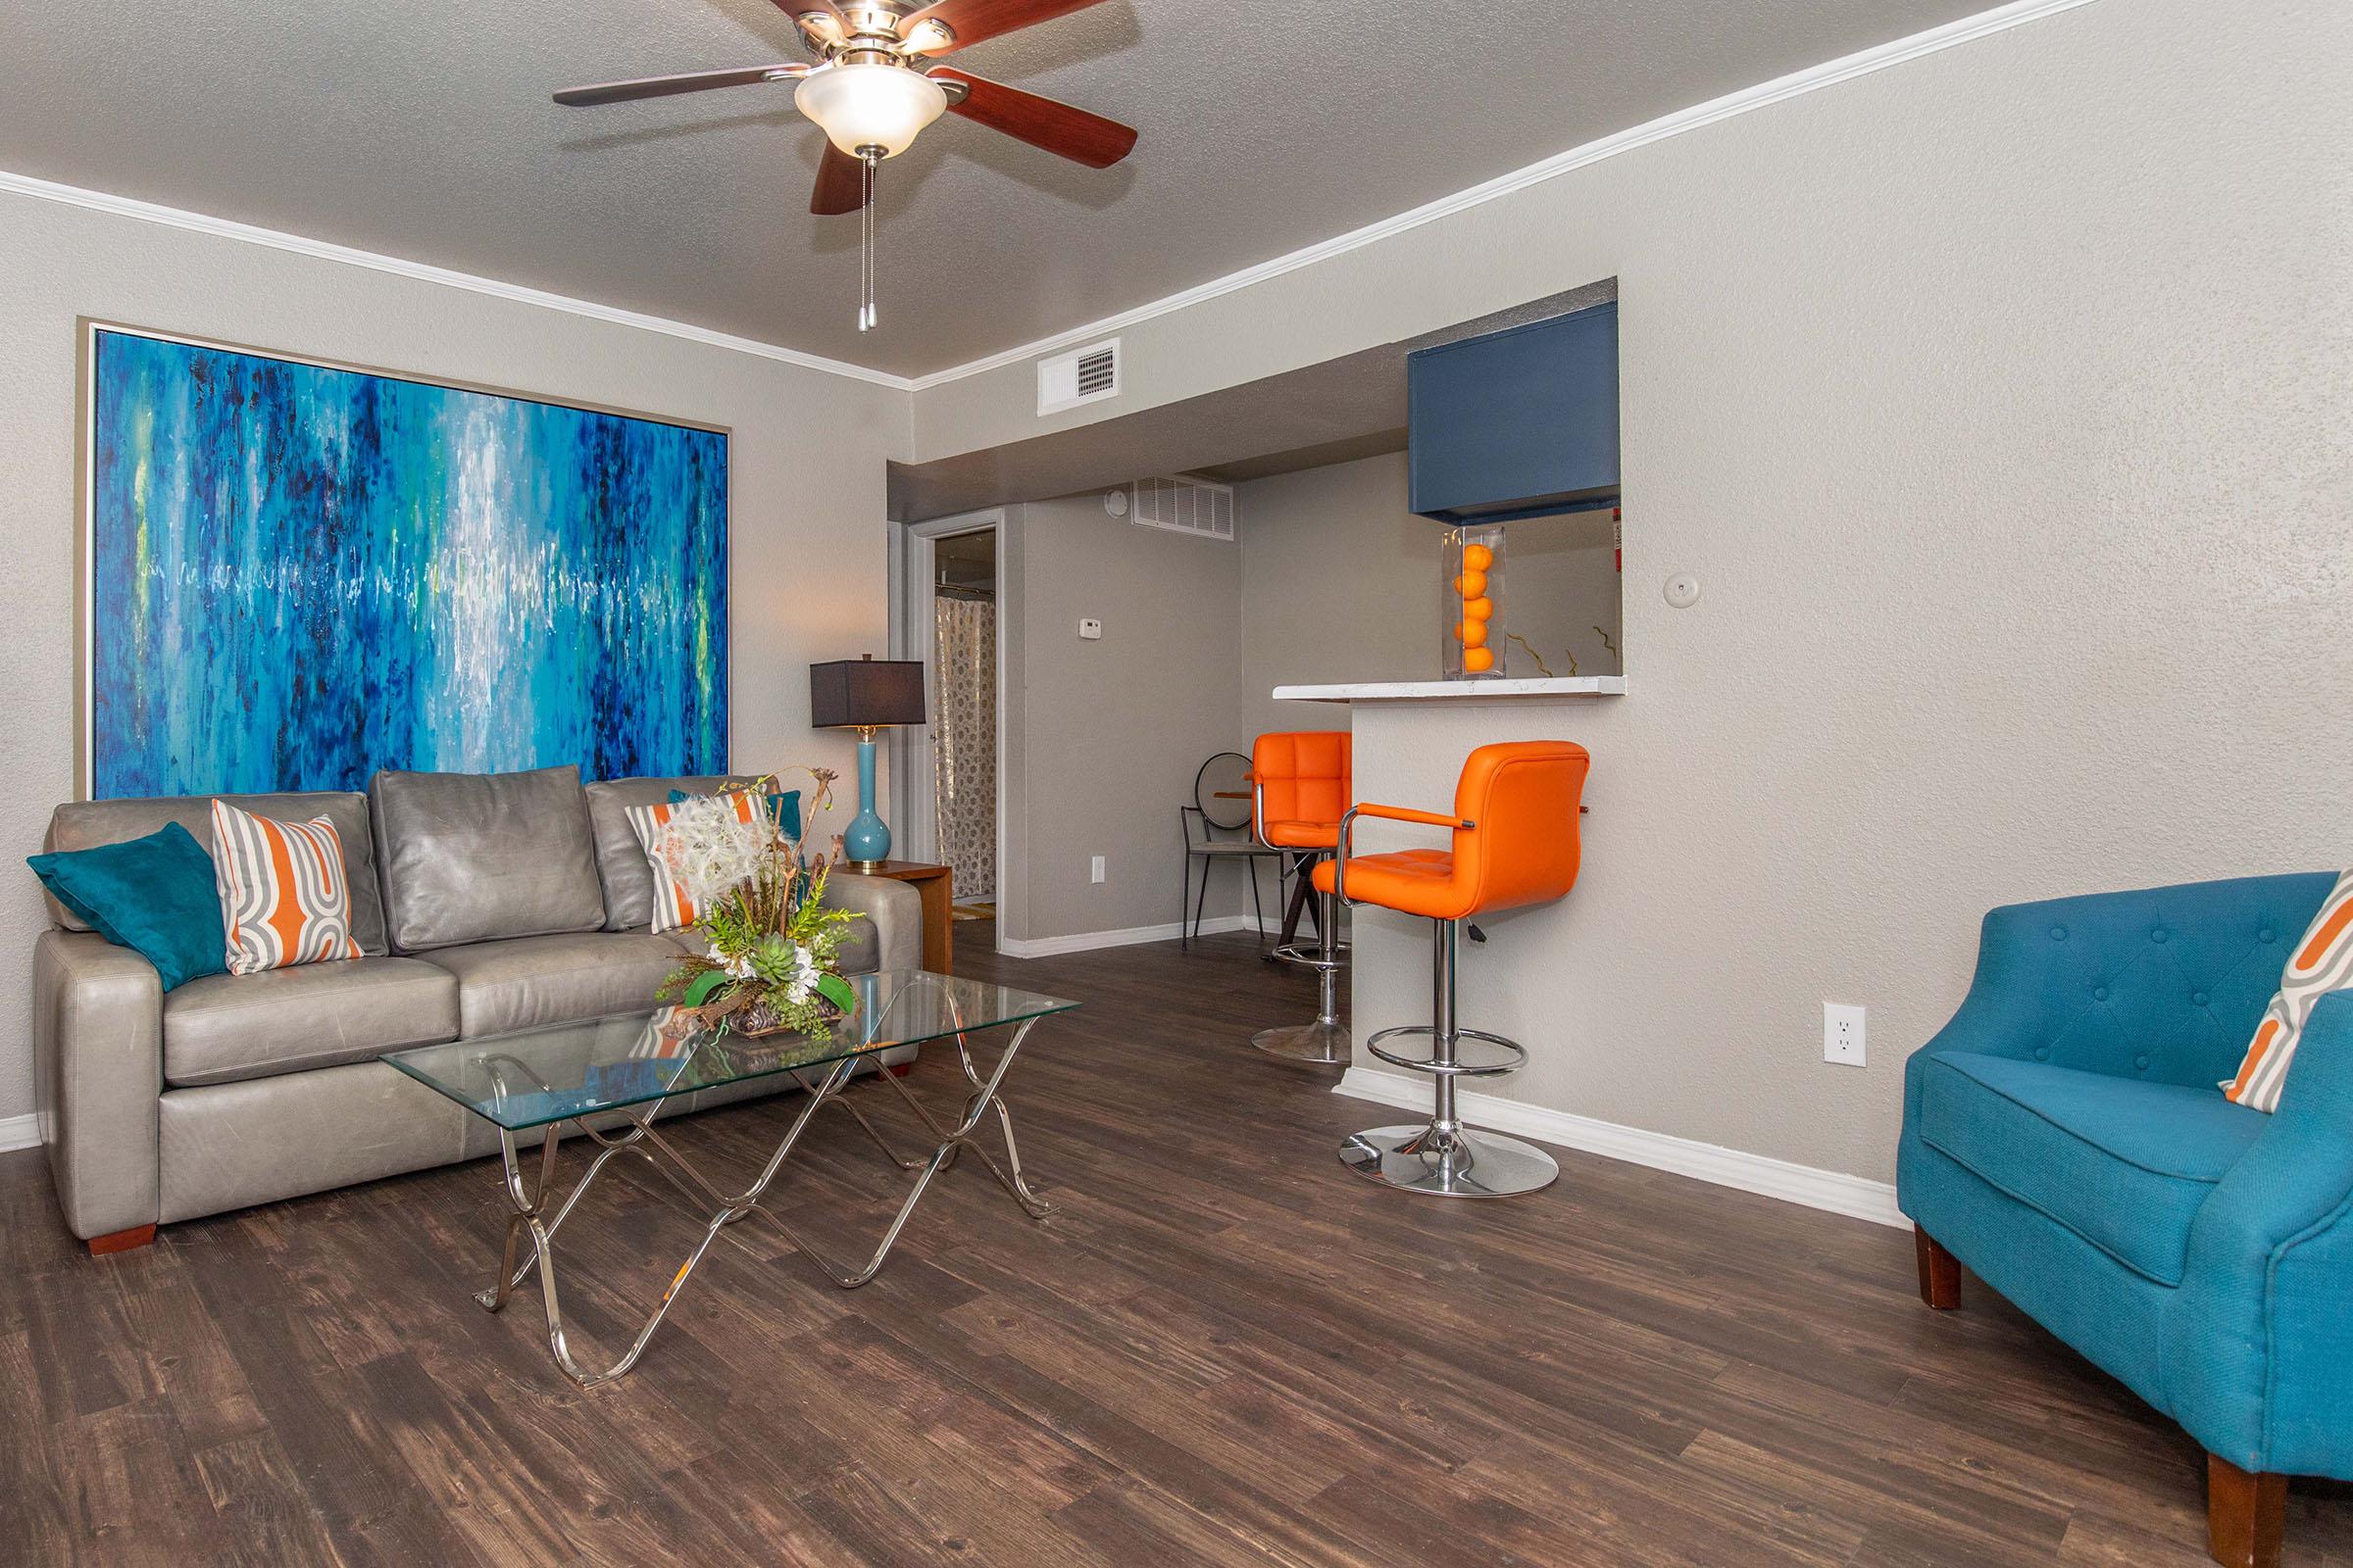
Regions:
[[[2346, 59], [2334, 0], [2085, 5], [1122, 329], [1148, 402], [1619, 277], [1628, 696], [1358, 715], [1405, 804], [1595, 755], [1584, 884], [1464, 952], [1501, 1093], [1885, 1178], [1988, 905], [2353, 858]], [[1358, 1039], [1426, 973], [1367, 914]]]

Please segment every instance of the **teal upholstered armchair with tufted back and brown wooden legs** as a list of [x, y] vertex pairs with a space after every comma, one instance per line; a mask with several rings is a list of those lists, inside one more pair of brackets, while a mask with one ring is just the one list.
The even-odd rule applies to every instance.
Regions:
[[1960, 1269], [2181, 1422], [2217, 1561], [2273, 1563], [2287, 1476], [2353, 1479], [2353, 992], [2280, 1110], [2217, 1091], [2334, 875], [1986, 914], [1977, 980], [1904, 1072], [1920, 1293]]

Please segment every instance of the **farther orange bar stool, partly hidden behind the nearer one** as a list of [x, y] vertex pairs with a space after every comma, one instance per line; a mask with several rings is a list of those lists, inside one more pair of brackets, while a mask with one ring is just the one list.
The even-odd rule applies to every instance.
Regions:
[[[1259, 842], [1280, 849], [1299, 865], [1299, 898], [1308, 893], [1311, 870], [1332, 858], [1339, 844], [1339, 820], [1348, 809], [1351, 736], [1344, 729], [1306, 729], [1275, 736], [1259, 736], [1249, 748], [1249, 820]], [[1318, 976], [1315, 1023], [1292, 1023], [1278, 1030], [1259, 1030], [1249, 1037], [1259, 1051], [1287, 1056], [1297, 1063], [1322, 1063], [1337, 1067], [1348, 1060], [1348, 1030], [1339, 1020], [1339, 898], [1325, 889], [1322, 907], [1315, 912], [1315, 950], [1308, 952], [1297, 940], [1299, 898], [1285, 917], [1285, 940], [1275, 945], [1275, 957], [1285, 964], [1301, 964]]]

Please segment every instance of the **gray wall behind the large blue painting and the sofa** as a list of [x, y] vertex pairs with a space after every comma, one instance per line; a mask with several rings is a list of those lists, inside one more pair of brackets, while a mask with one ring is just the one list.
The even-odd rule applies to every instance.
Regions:
[[[880, 654], [885, 458], [906, 395], [776, 360], [593, 322], [136, 219], [0, 193], [0, 844], [40, 849], [73, 792], [75, 317], [544, 393], [734, 430], [734, 766], [826, 762], [807, 665]], [[812, 425], [828, 433], [807, 440]], [[852, 802], [854, 811], [854, 802]], [[838, 832], [835, 811], [819, 832]], [[33, 1110], [33, 875], [0, 889], [0, 1117]]]

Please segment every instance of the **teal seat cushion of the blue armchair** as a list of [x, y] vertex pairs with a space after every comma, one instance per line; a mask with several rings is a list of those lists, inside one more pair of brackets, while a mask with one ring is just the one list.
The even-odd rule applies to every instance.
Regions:
[[1922, 1143], [2162, 1286], [2266, 1121], [2212, 1088], [2007, 1056], [1941, 1051], [1920, 1074]]

